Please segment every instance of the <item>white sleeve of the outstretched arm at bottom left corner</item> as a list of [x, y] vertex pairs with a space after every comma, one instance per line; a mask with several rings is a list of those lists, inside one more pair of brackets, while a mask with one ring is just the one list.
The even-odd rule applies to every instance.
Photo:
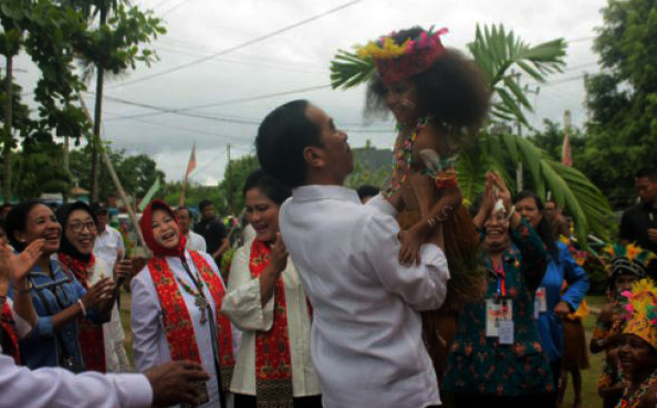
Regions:
[[137, 408], [153, 402], [150, 383], [142, 374], [31, 372], [4, 355], [0, 355], [0, 408]]

